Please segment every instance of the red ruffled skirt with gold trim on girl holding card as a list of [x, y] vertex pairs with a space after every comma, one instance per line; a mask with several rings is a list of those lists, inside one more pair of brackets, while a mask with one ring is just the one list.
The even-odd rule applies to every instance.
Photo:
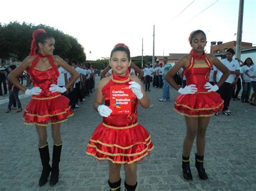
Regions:
[[93, 132], [86, 154], [116, 164], [142, 161], [153, 149], [149, 132], [136, 123], [114, 127], [100, 123]]

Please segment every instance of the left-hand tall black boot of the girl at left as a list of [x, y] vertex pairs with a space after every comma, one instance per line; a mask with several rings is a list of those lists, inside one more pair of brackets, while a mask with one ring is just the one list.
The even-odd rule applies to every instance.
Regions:
[[48, 143], [45, 146], [38, 147], [38, 150], [39, 150], [41, 162], [43, 165], [43, 171], [39, 179], [38, 185], [43, 186], [48, 181], [48, 176], [51, 172], [51, 166], [49, 165], [50, 154], [49, 154]]

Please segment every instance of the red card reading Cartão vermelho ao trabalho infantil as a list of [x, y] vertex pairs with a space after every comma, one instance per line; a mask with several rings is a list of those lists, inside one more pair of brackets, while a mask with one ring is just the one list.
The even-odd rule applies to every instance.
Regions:
[[110, 86], [110, 109], [112, 115], [127, 115], [132, 109], [132, 90], [129, 86]]

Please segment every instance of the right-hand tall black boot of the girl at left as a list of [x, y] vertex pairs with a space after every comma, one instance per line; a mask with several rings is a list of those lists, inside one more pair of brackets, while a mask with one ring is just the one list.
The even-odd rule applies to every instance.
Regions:
[[59, 161], [62, 153], [62, 143], [53, 145], [50, 186], [56, 185], [59, 181]]

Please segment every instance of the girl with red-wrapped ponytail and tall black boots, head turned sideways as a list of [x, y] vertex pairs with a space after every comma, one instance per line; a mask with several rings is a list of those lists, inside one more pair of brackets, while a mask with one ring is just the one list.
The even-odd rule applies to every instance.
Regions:
[[[36, 125], [38, 133], [38, 149], [42, 160], [43, 171], [39, 179], [39, 186], [48, 181], [51, 172], [50, 185], [58, 182], [59, 161], [62, 150], [60, 137], [60, 123], [65, 122], [73, 115], [69, 107], [69, 99], [62, 96], [79, 77], [75, 69], [66, 64], [59, 56], [53, 55], [55, 39], [43, 29], [33, 32], [31, 52], [29, 56], [8, 76], [8, 80], [15, 87], [21, 89], [32, 100], [26, 106], [23, 119], [28, 125]], [[65, 87], [57, 86], [59, 76], [57, 66], [63, 67], [72, 77]], [[26, 89], [17, 80], [17, 76], [26, 70], [33, 82], [32, 89]], [[52, 166], [49, 165], [50, 154], [47, 143], [46, 126], [51, 125], [53, 138]]]

